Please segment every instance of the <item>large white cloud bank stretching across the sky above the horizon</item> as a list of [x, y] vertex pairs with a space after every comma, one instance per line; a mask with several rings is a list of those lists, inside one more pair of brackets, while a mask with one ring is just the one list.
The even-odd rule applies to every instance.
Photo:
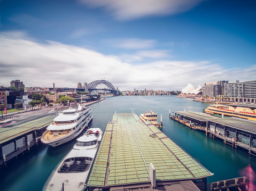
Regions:
[[[143, 53], [143, 52], [142, 52]], [[144, 53], [144, 55], [148, 55]], [[157, 56], [156, 56], [157, 57]], [[160, 56], [161, 57], [161, 56]], [[76, 87], [101, 78], [126, 89], [181, 90], [216, 80], [255, 80], [251, 68], [225, 69], [216, 61], [162, 61], [129, 64], [115, 56], [48, 41], [37, 43], [22, 32], [0, 33], [0, 85], [20, 79], [26, 87]]]

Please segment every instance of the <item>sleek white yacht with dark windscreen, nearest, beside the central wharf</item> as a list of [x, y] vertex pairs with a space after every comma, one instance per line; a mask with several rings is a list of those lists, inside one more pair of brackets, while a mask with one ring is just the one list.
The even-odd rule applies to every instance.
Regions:
[[102, 130], [91, 128], [77, 138], [72, 150], [61, 160], [45, 182], [43, 191], [78, 191], [84, 186], [102, 139]]

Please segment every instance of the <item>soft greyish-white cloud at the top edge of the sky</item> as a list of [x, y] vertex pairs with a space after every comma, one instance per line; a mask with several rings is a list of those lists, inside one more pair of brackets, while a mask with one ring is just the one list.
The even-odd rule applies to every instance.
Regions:
[[188, 11], [204, 0], [78, 0], [92, 6], [104, 7], [118, 20], [145, 16], [169, 15]]

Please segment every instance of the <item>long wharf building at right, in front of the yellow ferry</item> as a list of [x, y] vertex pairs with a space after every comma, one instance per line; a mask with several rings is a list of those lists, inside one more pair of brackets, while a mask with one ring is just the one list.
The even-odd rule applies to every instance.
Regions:
[[205, 131], [206, 136], [223, 140], [232, 148], [240, 147], [256, 156], [256, 121], [218, 118], [193, 111], [176, 111], [170, 113], [169, 117], [191, 129]]

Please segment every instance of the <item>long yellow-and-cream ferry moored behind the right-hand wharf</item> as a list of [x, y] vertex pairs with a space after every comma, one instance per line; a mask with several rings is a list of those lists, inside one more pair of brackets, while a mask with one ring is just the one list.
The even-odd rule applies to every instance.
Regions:
[[225, 117], [237, 117], [256, 121], [256, 106], [243, 104], [213, 104], [203, 112], [212, 115], [224, 115]]

